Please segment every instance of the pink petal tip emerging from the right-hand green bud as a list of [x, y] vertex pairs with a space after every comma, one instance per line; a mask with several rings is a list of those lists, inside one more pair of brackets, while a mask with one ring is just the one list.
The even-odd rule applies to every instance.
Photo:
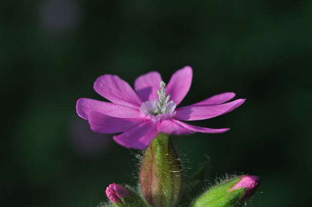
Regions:
[[245, 175], [233, 188], [230, 189], [230, 191], [239, 189], [239, 188], [246, 188], [246, 193], [243, 197], [243, 199], [246, 199], [254, 194], [259, 184], [260, 184], [260, 178], [258, 176]]

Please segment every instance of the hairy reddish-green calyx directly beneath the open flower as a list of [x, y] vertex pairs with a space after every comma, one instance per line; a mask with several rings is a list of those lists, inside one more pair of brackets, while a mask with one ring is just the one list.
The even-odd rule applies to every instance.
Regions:
[[141, 171], [142, 194], [153, 207], [172, 207], [180, 196], [182, 166], [168, 134], [159, 133], [146, 149]]

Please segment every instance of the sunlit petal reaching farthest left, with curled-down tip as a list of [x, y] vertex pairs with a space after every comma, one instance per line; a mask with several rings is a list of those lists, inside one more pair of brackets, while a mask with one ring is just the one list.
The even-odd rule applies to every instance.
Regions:
[[119, 118], [138, 118], [143, 116], [138, 109], [90, 98], [78, 99], [76, 110], [78, 115], [84, 119], [88, 119], [91, 112], [99, 112]]

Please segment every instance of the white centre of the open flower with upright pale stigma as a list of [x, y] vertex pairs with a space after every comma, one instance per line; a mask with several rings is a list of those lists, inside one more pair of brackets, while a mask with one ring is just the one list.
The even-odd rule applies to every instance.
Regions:
[[140, 111], [149, 116], [153, 121], [169, 119], [175, 115], [176, 103], [169, 101], [171, 95], [166, 95], [166, 84], [160, 82], [160, 90], [157, 91], [158, 100], [145, 101], [140, 106]]

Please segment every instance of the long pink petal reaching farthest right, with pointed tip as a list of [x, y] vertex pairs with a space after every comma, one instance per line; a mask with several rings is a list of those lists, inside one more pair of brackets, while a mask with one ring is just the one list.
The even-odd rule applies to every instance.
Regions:
[[229, 113], [244, 102], [245, 99], [236, 99], [220, 105], [190, 105], [177, 109], [175, 118], [184, 121], [209, 119], [224, 113]]

